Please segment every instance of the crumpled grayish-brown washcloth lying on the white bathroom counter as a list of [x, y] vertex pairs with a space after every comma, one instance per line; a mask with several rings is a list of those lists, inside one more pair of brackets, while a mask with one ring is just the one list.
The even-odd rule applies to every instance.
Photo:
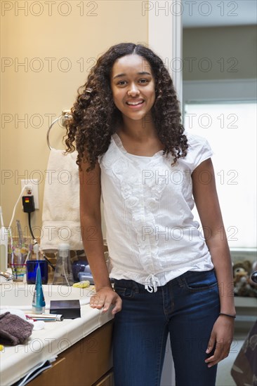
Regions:
[[0, 343], [1, 345], [22, 345], [32, 334], [33, 324], [17, 315], [5, 312], [0, 315]]

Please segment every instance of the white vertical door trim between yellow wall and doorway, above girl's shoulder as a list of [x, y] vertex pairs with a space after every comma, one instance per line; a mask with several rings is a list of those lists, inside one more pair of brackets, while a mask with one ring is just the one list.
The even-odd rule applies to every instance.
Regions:
[[[181, 0], [148, 1], [148, 44], [164, 61], [182, 104]], [[146, 3], [144, 1], [143, 3]]]

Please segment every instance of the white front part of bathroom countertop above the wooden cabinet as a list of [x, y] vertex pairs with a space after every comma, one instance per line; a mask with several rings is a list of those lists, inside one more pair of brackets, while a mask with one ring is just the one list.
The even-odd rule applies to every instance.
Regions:
[[[112, 319], [89, 305], [81, 305], [81, 317], [46, 322], [45, 328], [32, 331], [25, 345], [4, 347], [0, 352], [0, 384], [12, 385], [42, 361], [54, 358]], [[83, 353], [82, 353], [83, 354]]]

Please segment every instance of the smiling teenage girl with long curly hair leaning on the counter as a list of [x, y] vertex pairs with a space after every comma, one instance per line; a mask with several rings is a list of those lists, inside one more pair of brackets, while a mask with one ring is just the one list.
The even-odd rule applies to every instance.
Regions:
[[115, 386], [159, 385], [168, 333], [177, 386], [215, 385], [230, 351], [232, 263], [212, 152], [180, 116], [164, 63], [132, 43], [98, 59], [72, 107], [66, 144], [78, 151], [90, 305], [114, 315]]

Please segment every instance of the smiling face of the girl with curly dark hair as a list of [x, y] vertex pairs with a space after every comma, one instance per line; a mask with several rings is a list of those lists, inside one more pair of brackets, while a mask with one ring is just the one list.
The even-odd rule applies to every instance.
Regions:
[[124, 119], [138, 120], [150, 113], [155, 101], [154, 76], [149, 62], [125, 55], [114, 62], [111, 74], [114, 103]]

